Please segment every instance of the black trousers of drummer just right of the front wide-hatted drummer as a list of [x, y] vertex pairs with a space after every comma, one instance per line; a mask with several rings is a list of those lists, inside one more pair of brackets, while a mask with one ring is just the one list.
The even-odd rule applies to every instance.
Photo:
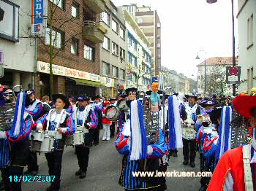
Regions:
[[90, 148], [83, 146], [75, 146], [75, 153], [78, 157], [78, 165], [82, 171], [87, 171]]

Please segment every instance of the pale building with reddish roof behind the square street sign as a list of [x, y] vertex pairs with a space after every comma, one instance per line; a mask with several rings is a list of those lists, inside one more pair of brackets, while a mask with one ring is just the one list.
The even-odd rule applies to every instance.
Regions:
[[[238, 63], [238, 59], [236, 59]], [[206, 59], [206, 87], [205, 62], [197, 65], [197, 90], [199, 94], [219, 93], [232, 95], [232, 85], [226, 83], [226, 66], [232, 66], [232, 57], [213, 57]]]

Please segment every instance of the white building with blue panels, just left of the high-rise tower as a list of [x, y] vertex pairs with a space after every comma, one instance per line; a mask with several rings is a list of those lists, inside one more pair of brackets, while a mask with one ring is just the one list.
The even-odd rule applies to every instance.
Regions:
[[124, 19], [127, 28], [127, 87], [150, 90], [152, 77], [150, 42], [126, 9], [124, 9]]

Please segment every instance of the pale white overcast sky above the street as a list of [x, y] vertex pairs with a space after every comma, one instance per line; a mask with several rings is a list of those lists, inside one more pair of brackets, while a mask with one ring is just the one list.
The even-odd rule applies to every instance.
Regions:
[[[157, 10], [162, 26], [162, 66], [195, 78], [204, 58], [232, 56], [231, 1], [218, 0], [112, 0], [116, 6], [136, 3]], [[235, 2], [235, 21], [237, 1]], [[235, 23], [237, 28], [237, 23]], [[235, 29], [237, 34], [237, 29]], [[238, 47], [236, 35], [236, 49]], [[200, 51], [200, 50], [204, 50]], [[197, 52], [200, 60], [195, 60]], [[236, 54], [238, 51], [236, 50]]]

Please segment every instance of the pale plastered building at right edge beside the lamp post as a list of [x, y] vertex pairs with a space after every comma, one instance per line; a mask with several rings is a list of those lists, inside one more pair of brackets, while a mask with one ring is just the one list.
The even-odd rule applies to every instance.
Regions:
[[238, 0], [238, 36], [239, 36], [239, 63], [241, 66], [241, 82], [238, 92], [250, 92], [256, 86], [256, 1]]

